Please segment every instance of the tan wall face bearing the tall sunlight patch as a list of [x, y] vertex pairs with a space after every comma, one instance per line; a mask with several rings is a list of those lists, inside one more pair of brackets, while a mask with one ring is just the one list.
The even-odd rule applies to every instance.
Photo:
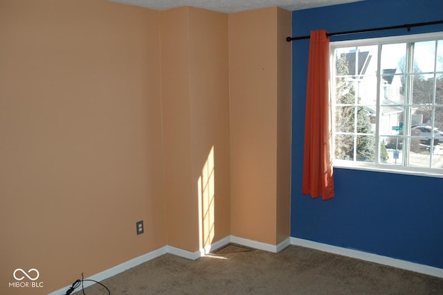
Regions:
[[230, 234], [228, 15], [189, 8], [189, 16], [192, 184], [201, 200], [201, 248]]

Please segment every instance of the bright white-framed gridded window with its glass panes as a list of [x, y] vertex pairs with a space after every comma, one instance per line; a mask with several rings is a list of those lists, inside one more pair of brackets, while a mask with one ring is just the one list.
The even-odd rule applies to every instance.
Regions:
[[443, 33], [331, 48], [334, 166], [443, 175]]

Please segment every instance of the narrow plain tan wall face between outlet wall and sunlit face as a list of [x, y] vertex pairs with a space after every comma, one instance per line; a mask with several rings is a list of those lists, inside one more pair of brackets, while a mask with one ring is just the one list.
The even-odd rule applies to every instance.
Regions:
[[161, 89], [168, 244], [197, 250], [197, 196], [192, 195], [189, 25], [185, 9], [160, 12]]

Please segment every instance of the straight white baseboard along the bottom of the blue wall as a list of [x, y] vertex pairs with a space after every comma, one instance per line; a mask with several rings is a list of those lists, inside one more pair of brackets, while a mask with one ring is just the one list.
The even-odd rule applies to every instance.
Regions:
[[314, 242], [310, 240], [293, 238], [291, 237], [291, 244], [307, 247], [311, 249], [316, 249], [324, 252], [334, 253], [342, 256], [347, 256], [351, 258], [357, 258], [361, 260], [366, 260], [370, 262], [379, 263], [380, 265], [388, 265], [390, 267], [397, 267], [399, 269], [406, 269], [408, 271], [415, 271], [420, 274], [427, 274], [428, 276], [436, 276], [438, 278], [443, 278], [443, 269], [437, 267], [431, 267], [428, 265], [420, 265], [419, 263], [409, 262], [406, 260], [400, 260], [396, 258], [390, 258], [388, 256], [381, 256], [373, 253], [368, 253], [364, 251], [358, 251], [354, 249], [347, 249], [343, 247], [332, 246], [329, 244], [323, 244], [319, 242]]

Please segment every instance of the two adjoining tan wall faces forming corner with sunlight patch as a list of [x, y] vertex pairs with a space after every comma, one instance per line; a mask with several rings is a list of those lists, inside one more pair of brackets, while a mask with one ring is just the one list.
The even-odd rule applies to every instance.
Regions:
[[168, 244], [198, 251], [230, 231], [228, 17], [160, 15]]

